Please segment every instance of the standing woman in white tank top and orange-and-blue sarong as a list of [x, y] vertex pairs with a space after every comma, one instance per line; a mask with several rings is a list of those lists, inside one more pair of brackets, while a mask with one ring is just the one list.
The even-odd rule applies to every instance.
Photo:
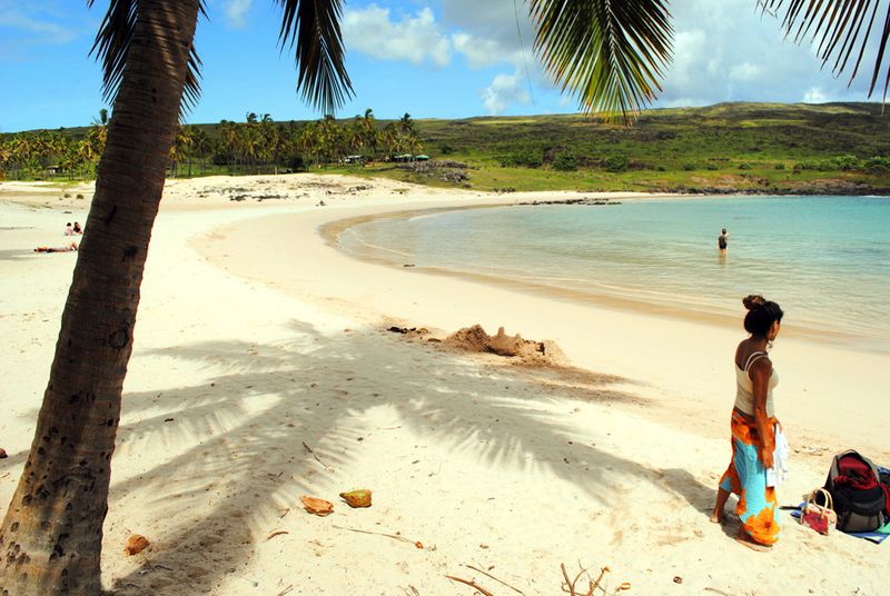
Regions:
[[775, 433], [782, 425], [775, 418], [772, 397], [779, 377], [767, 349], [779, 335], [783, 312], [762, 296], [748, 296], [742, 304], [748, 309], [744, 328], [751, 336], [735, 348], [732, 458], [720, 479], [711, 520], [722, 523], [730, 493], [739, 495], [735, 513], [742, 525], [738, 540], [755, 550], [768, 550], [779, 538], [779, 522], [775, 488], [768, 483], [767, 470], [773, 467]]

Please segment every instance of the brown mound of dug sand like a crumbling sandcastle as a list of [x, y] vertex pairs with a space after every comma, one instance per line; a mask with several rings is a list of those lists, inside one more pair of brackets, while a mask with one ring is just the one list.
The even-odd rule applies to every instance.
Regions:
[[443, 341], [444, 346], [463, 351], [491, 352], [507, 358], [517, 358], [522, 364], [535, 366], [565, 366], [563, 351], [553, 341], [523, 339], [520, 334], [508, 336], [504, 328], [490, 336], [479, 325], [464, 327]]

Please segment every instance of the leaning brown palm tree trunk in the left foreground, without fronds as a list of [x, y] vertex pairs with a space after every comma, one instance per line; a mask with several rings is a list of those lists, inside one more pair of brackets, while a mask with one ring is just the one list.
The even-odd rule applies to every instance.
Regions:
[[120, 396], [198, 0], [140, 0], [43, 405], [0, 527], [0, 594], [99, 594]]

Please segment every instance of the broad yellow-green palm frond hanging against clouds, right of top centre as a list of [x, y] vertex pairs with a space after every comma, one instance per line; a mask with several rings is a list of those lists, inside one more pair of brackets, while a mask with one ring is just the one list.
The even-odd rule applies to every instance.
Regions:
[[673, 28], [664, 0], [531, 0], [535, 51], [587, 112], [630, 123], [661, 91]]

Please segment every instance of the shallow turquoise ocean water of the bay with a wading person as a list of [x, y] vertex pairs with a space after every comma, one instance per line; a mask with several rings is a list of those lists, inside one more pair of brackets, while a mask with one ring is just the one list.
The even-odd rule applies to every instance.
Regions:
[[742, 296], [762, 294], [782, 305], [788, 325], [890, 350], [888, 232], [888, 198], [721, 197], [421, 212], [359, 224], [339, 242], [358, 257], [576, 300], [738, 317]]

